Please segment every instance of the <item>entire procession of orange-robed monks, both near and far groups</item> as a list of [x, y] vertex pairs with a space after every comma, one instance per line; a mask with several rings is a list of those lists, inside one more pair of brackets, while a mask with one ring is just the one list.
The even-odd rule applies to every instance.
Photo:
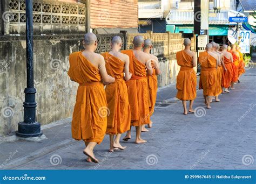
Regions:
[[[152, 127], [150, 117], [156, 103], [160, 69], [157, 57], [150, 54], [152, 41], [142, 36], [134, 37], [133, 49], [125, 51], [120, 51], [122, 39], [114, 36], [111, 51], [103, 54], [95, 53], [98, 45], [95, 34], [85, 34], [83, 44], [84, 51], [72, 53], [69, 58], [68, 75], [79, 84], [72, 137], [84, 140], [83, 153], [87, 155], [87, 162], [98, 163], [93, 149], [102, 143], [106, 134], [110, 136], [111, 152], [126, 148], [120, 144], [120, 138], [126, 132], [123, 140], [131, 139], [132, 126], [136, 128], [135, 143], [146, 143], [141, 132], [148, 131], [145, 125]], [[193, 67], [197, 65], [197, 57], [190, 51], [190, 39], [184, 39], [184, 46], [185, 49], [177, 53], [177, 63], [181, 66], [177, 76], [177, 98], [183, 102], [186, 115], [194, 112], [197, 76]], [[204, 90], [207, 108], [211, 108], [213, 96], [219, 102], [220, 93], [230, 93], [228, 88], [234, 89], [234, 82], [244, 73], [240, 70], [242, 57], [238, 53], [235, 45], [230, 52], [226, 45], [219, 52], [219, 45], [215, 43], [207, 44], [206, 51], [200, 53], [199, 88]], [[188, 111], [186, 101], [190, 101]]]

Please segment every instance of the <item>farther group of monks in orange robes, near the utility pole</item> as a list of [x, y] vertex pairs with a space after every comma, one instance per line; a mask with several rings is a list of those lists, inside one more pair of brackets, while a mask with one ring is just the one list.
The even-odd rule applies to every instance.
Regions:
[[[180, 72], [177, 76], [177, 98], [183, 102], [184, 115], [194, 113], [193, 102], [196, 99], [197, 76], [193, 67], [197, 65], [197, 57], [190, 51], [190, 39], [184, 39], [185, 49], [176, 55]], [[221, 93], [234, 90], [235, 82], [240, 82], [240, 76], [245, 73], [245, 63], [237, 45], [223, 45], [221, 52], [219, 44], [213, 41], [206, 45], [206, 51], [199, 53], [198, 63], [201, 68], [199, 89], [203, 89], [206, 108], [211, 108], [212, 100], [220, 102]], [[190, 101], [187, 111], [186, 101]]]

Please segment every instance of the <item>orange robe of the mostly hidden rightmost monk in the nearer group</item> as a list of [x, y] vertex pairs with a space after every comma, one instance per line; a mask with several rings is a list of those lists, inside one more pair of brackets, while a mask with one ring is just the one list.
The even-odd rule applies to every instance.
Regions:
[[[152, 68], [154, 68], [154, 63], [152, 63]], [[157, 101], [157, 75], [156, 75], [156, 69], [153, 69], [152, 75], [147, 75], [147, 82], [149, 85], [149, 111], [150, 116], [154, 113], [154, 105]]]

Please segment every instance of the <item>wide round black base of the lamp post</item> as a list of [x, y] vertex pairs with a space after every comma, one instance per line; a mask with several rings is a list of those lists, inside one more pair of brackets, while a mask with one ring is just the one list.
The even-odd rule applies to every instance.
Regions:
[[18, 137], [39, 137], [42, 136], [41, 125], [38, 122], [35, 123], [24, 123], [19, 122], [18, 131], [15, 132]]

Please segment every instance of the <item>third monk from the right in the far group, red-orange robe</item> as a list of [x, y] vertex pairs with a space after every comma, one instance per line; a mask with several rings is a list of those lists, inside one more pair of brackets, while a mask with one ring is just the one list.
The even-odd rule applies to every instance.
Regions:
[[233, 57], [230, 52], [227, 52], [227, 45], [222, 46], [222, 53], [224, 56], [225, 67], [227, 69], [223, 73], [223, 87], [226, 93], [230, 93], [230, 91], [228, 91], [228, 88], [231, 86], [231, 81], [233, 79]]

